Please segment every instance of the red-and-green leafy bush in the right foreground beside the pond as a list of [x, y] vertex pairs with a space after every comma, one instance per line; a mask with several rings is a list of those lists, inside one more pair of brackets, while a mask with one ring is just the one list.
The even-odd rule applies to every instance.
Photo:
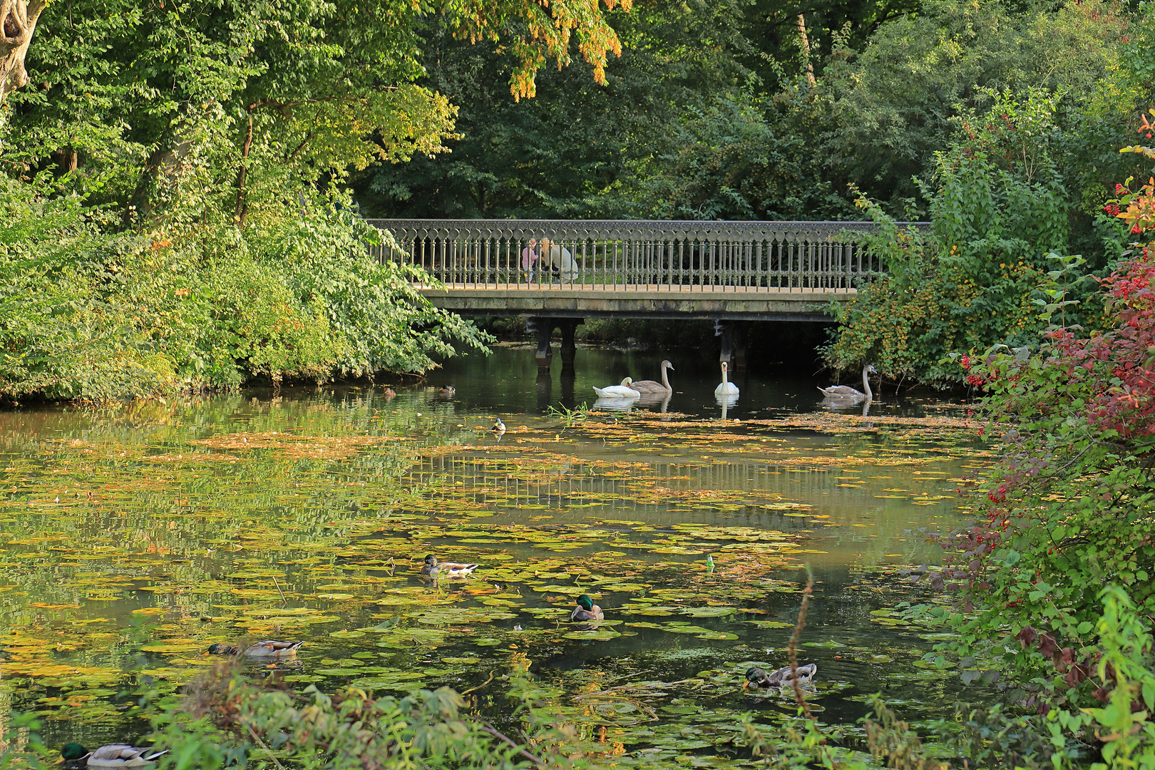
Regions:
[[1109, 208], [1140, 241], [1101, 282], [1105, 330], [1056, 323], [1073, 301], [1057, 296], [1037, 350], [953, 359], [986, 394], [1001, 459], [934, 578], [962, 591], [940, 646], [964, 679], [1008, 674], [1052, 746], [1094, 746], [1096, 768], [1155, 765], [1155, 179], [1118, 192]]

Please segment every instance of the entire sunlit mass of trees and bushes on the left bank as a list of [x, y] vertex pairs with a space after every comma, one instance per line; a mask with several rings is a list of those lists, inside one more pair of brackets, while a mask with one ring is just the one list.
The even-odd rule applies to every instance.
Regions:
[[456, 135], [456, 109], [415, 82], [430, 27], [504, 46], [524, 97], [571, 44], [603, 81], [619, 5], [53, 5], [36, 87], [0, 120], [0, 398], [424, 372], [480, 346], [330, 205], [348, 173]]

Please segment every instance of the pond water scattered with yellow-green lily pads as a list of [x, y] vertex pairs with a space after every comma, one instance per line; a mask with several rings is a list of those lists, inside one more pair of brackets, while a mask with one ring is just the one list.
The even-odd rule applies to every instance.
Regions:
[[[528, 670], [589, 752], [724, 764], [738, 715], [795, 711], [740, 685], [787, 665], [808, 568], [798, 656], [818, 664], [818, 718], [852, 733], [875, 691], [942, 716], [957, 674], [895, 607], [930, 598], [906, 568], [936, 563], [925, 532], [966, 519], [956, 488], [989, 462], [964, 410], [884, 395], [866, 418], [832, 411], [825, 382], [773, 367], [737, 373], [723, 408], [716, 362], [668, 357], [664, 412], [566, 416], [593, 386], [657, 377], [663, 356], [580, 349], [575, 374], [556, 358], [538, 376], [531, 350], [499, 346], [388, 398], [0, 413], [0, 715], [42, 713], [50, 746], [134, 738], [139, 693], [187, 681], [209, 644], [301, 638], [262, 675], [476, 688], [499, 719], [502, 678]], [[480, 567], [430, 584], [427, 553]], [[604, 622], [568, 622], [581, 593]]]

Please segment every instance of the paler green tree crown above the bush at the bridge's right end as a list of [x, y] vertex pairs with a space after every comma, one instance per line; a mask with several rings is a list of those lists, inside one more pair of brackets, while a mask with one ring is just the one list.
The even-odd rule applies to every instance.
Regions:
[[[990, 106], [991, 89], [1061, 94], [1059, 124], [1066, 125], [1116, 65], [1125, 24], [1108, 2], [1026, 12], [994, 1], [924, 2], [919, 13], [882, 24], [856, 57], [827, 68], [822, 149], [847, 179], [900, 210], [919, 194], [911, 180], [927, 174], [952, 124]], [[1113, 113], [1116, 128], [1124, 114]]]

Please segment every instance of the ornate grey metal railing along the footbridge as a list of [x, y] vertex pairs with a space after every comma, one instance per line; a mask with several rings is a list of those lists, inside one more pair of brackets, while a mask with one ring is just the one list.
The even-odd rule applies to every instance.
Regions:
[[368, 222], [395, 241], [379, 247], [382, 262], [450, 285], [848, 291], [886, 268], [863, 246], [871, 222]]

